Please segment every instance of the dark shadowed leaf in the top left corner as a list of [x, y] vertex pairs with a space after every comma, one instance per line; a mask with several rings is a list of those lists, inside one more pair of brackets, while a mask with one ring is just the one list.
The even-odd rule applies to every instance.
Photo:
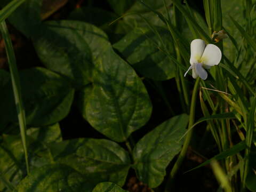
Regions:
[[[11, 0], [1, 0], [0, 5], [9, 2]], [[41, 4], [42, 0], [26, 0], [8, 17], [11, 24], [27, 38], [34, 36], [41, 24]]]

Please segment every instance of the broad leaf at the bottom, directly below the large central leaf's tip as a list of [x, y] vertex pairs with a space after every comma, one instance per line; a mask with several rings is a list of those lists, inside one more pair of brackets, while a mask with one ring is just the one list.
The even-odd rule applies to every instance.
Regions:
[[106, 139], [74, 139], [50, 148], [55, 162], [73, 167], [94, 186], [105, 181], [123, 186], [131, 166], [127, 151]]

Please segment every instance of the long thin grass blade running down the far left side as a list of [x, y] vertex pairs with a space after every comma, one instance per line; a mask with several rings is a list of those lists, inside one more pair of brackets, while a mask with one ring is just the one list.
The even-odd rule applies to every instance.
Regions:
[[14, 92], [14, 99], [17, 107], [18, 120], [20, 125], [20, 134], [23, 145], [23, 150], [25, 153], [27, 173], [29, 173], [29, 165], [28, 165], [28, 153], [27, 153], [27, 144], [26, 144], [26, 116], [25, 116], [25, 108], [23, 107], [22, 98], [21, 98], [21, 87], [19, 81], [19, 74], [16, 65], [16, 59], [13, 51], [13, 46], [11, 42], [11, 38], [9, 36], [9, 32], [6, 26], [5, 21], [0, 23], [0, 31], [2, 37], [4, 39], [5, 50], [7, 54], [7, 59], [9, 62], [9, 68], [11, 72], [11, 80], [12, 87]]

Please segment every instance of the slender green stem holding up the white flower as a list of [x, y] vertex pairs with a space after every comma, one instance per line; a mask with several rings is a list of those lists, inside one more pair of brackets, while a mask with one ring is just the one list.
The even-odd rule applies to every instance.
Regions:
[[[188, 130], [190, 129], [190, 127], [193, 126], [194, 121], [195, 121], [195, 108], [196, 108], [196, 98], [197, 98], [196, 96], [197, 96], [197, 91], [198, 91], [198, 88], [199, 88], [199, 85], [200, 85], [199, 83], [200, 83], [200, 78], [197, 77], [196, 83], [194, 85], [193, 93], [192, 93], [192, 98], [191, 98]], [[188, 133], [186, 135], [186, 138], [185, 138], [185, 141], [183, 143], [182, 149], [180, 151], [180, 155], [179, 155], [177, 161], [175, 162], [175, 164], [172, 168], [172, 171], [169, 175], [169, 179], [167, 181], [165, 190], [170, 189], [170, 191], [171, 191], [171, 188], [172, 188], [173, 183], [174, 183], [174, 177], [177, 174], [177, 172], [178, 172], [178, 170], [179, 170], [179, 168], [180, 168], [180, 166], [183, 162], [183, 159], [186, 156], [187, 149], [188, 149], [190, 140], [192, 138], [192, 134], [193, 134], [193, 130], [188, 131]]]

